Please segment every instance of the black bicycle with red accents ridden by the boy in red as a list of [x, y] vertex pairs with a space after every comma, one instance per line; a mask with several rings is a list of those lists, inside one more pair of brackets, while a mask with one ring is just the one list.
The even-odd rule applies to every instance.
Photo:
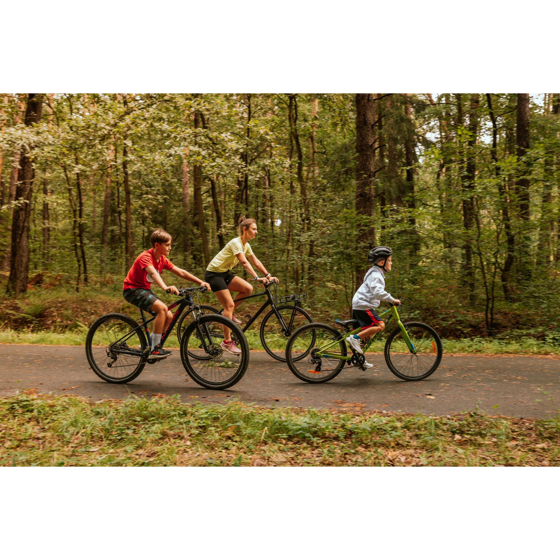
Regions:
[[[206, 288], [184, 288], [179, 290], [180, 300], [168, 309], [177, 308], [167, 329], [161, 335], [161, 344], [171, 334], [185, 307], [193, 321], [184, 330], [181, 341], [181, 361], [193, 381], [208, 389], [226, 389], [235, 385], [244, 376], [249, 365], [249, 345], [242, 330], [234, 321], [218, 314], [204, 314], [203, 306], [195, 305], [193, 293], [205, 292]], [[167, 290], [170, 293], [170, 290]], [[121, 313], [102, 315], [91, 325], [86, 337], [86, 356], [92, 370], [109, 383], [128, 383], [136, 379], [146, 366], [157, 360], [150, 357], [152, 346], [148, 325], [155, 318], [142, 322]], [[220, 346], [223, 340], [222, 325], [231, 329], [240, 354], [224, 353]], [[221, 336], [217, 336], [217, 334]]]

